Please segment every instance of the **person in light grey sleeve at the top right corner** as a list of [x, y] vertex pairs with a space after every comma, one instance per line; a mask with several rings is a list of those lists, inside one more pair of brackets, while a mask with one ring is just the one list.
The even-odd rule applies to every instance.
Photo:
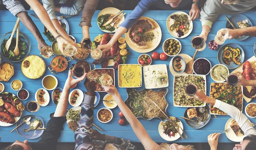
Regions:
[[[207, 40], [212, 23], [221, 14], [241, 14], [256, 6], [256, 0], [207, 0], [201, 8], [200, 21], [202, 22], [202, 32], [200, 37]], [[254, 30], [255, 31], [255, 30]]]

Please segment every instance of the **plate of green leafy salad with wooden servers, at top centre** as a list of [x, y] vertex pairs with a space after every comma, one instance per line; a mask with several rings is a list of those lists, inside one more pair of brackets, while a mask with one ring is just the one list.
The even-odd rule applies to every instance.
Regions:
[[[108, 8], [102, 9], [102, 11], [99, 12], [98, 17], [97, 17], [97, 24], [99, 26], [99, 29], [101, 29], [101, 31], [107, 32], [107, 33], [116, 32], [119, 25], [121, 25], [121, 23], [123, 23], [125, 21], [125, 16], [122, 16], [122, 14], [123, 14], [122, 12], [118, 16], [116, 16], [116, 14], [118, 14], [119, 12], [120, 12], [119, 9], [113, 8], [113, 7], [108, 7]], [[116, 17], [114, 17], [114, 16], [116, 16]], [[121, 16], [122, 16], [122, 18], [118, 19]], [[112, 18], [113, 18], [113, 21], [111, 21], [111, 23], [116, 22], [112, 28], [106, 28], [109, 24], [106, 26], [103, 26], [105, 23], [108, 22], [108, 20], [111, 20]]]

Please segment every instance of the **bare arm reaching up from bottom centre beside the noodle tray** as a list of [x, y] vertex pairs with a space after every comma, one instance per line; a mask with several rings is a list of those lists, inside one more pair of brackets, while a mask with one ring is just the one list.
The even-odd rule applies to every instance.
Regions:
[[143, 144], [143, 147], [145, 148], [145, 150], [155, 150], [155, 147], [157, 147], [158, 144], [150, 138], [150, 136], [148, 135], [147, 131], [145, 130], [143, 125], [140, 123], [140, 121], [134, 116], [131, 110], [125, 105], [116, 87], [111, 85], [108, 87], [104, 86], [103, 88], [107, 93], [113, 96], [118, 107], [120, 108], [125, 118], [131, 125], [132, 129], [134, 130], [134, 133], [136, 134], [137, 138]]

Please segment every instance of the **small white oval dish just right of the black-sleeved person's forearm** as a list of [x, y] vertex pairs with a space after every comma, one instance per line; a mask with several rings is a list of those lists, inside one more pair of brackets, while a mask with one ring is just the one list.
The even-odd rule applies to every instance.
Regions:
[[68, 102], [70, 103], [71, 106], [77, 107], [81, 105], [81, 103], [84, 100], [84, 93], [83, 91], [79, 89], [75, 89], [70, 92]]

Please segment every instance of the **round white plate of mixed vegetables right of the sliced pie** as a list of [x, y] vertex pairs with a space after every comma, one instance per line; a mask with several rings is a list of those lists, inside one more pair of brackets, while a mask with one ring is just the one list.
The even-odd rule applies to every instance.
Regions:
[[166, 27], [173, 37], [184, 38], [192, 32], [193, 23], [189, 21], [189, 15], [186, 12], [176, 11], [167, 18]]

